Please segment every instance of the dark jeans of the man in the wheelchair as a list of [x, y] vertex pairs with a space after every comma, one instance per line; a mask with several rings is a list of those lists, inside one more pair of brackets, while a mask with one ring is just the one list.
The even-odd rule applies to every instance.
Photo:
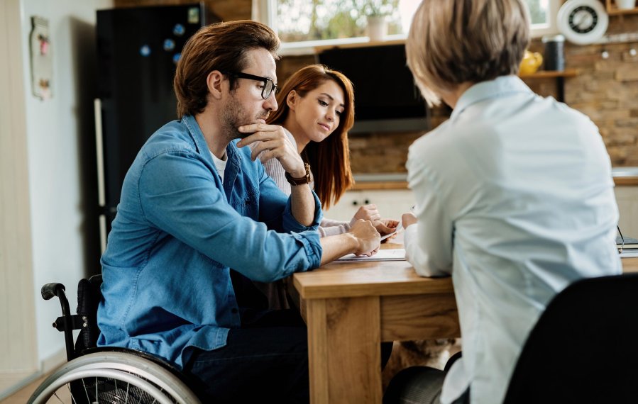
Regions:
[[195, 349], [184, 368], [204, 403], [307, 403], [308, 343], [293, 310], [255, 314], [230, 330], [226, 346]]

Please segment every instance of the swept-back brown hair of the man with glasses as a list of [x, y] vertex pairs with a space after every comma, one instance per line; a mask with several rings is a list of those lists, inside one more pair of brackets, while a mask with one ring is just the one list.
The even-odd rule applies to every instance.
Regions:
[[[246, 52], [258, 48], [268, 50], [276, 60], [279, 45], [273, 30], [256, 21], [230, 21], [200, 28], [184, 45], [177, 62], [173, 80], [177, 118], [204, 111], [210, 72], [241, 72], [246, 68]], [[228, 79], [231, 89], [235, 89], [236, 78], [229, 75]]]

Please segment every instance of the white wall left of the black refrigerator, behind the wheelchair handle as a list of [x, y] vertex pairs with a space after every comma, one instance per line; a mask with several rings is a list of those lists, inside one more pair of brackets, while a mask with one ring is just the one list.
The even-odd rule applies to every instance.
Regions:
[[[57, 301], [43, 301], [40, 287], [52, 281], [65, 284], [75, 311], [77, 281], [99, 266], [96, 255], [89, 253], [97, 248], [92, 247], [97, 216], [89, 214], [97, 208], [92, 196], [95, 176], [91, 167], [91, 81], [95, 75], [95, 11], [112, 6], [112, 0], [21, 1], [33, 288], [40, 361], [64, 348], [62, 335], [51, 327], [60, 315], [60, 305]], [[31, 16], [49, 20], [53, 98], [46, 101], [31, 95]]]

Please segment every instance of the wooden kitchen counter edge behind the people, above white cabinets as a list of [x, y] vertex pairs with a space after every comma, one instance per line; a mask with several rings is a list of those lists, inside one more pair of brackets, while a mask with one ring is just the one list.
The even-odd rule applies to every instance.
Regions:
[[[612, 169], [616, 186], [638, 186], [638, 167]], [[407, 173], [354, 174], [353, 190], [407, 189]]]

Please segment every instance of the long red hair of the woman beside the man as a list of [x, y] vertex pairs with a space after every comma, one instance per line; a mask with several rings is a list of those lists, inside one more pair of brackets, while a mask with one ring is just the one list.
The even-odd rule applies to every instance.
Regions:
[[322, 64], [311, 64], [299, 69], [277, 92], [279, 109], [270, 115], [268, 123], [281, 125], [285, 122], [290, 111], [286, 102], [290, 91], [295, 90], [304, 97], [326, 80], [336, 82], [343, 90], [343, 113], [339, 117], [339, 126], [328, 138], [322, 142], [309, 142], [302, 152], [302, 159], [312, 167], [314, 191], [321, 206], [328, 209], [354, 184], [348, 147], [348, 130], [354, 125], [354, 91], [348, 77]]

